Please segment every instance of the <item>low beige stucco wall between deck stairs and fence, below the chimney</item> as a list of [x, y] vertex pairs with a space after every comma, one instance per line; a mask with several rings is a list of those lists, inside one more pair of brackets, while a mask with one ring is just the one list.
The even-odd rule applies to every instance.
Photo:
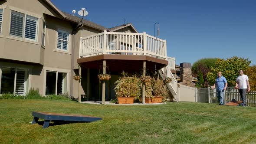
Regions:
[[195, 101], [195, 88], [180, 85], [179, 88], [179, 101]]

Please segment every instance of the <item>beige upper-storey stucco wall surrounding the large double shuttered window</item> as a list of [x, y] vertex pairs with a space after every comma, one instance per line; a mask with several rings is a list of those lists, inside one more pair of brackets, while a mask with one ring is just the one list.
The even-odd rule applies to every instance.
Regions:
[[[8, 0], [7, 2], [1, 2], [0, 4], [0, 8], [3, 8], [2, 33], [0, 35], [0, 58], [33, 62], [43, 65], [45, 53], [44, 48], [41, 46], [42, 25], [44, 19], [43, 13], [57, 17], [59, 16], [42, 0]], [[15, 36], [9, 36], [11, 10], [38, 18], [37, 39], [35, 42]], [[55, 35], [53, 36], [54, 37], [48, 38], [56, 39]], [[49, 45], [52, 45], [52, 43], [49, 43]], [[56, 56], [60, 59], [64, 59], [63, 55]]]

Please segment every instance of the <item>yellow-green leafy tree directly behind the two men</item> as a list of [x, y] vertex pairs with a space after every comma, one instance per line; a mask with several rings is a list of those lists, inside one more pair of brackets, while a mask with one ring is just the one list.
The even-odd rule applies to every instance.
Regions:
[[210, 85], [215, 83], [215, 79], [217, 77], [218, 72], [222, 72], [222, 76], [224, 76], [227, 80], [228, 86], [236, 85], [236, 77], [239, 75], [239, 70], [246, 69], [249, 67], [251, 60], [239, 58], [237, 56], [233, 56], [230, 59], [217, 59], [215, 62], [215, 66], [211, 67], [210, 72], [207, 73], [206, 79], [210, 82]]

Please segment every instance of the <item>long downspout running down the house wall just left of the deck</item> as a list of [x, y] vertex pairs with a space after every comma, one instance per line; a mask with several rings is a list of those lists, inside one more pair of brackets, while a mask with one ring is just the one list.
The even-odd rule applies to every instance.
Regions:
[[[82, 23], [79, 23], [73, 30], [72, 30], [72, 48], [71, 48], [71, 73], [70, 73], [70, 96], [73, 95], [73, 68], [74, 68], [74, 60], [75, 60], [75, 33], [78, 29], [84, 26]], [[79, 42], [80, 43], [80, 42]]]

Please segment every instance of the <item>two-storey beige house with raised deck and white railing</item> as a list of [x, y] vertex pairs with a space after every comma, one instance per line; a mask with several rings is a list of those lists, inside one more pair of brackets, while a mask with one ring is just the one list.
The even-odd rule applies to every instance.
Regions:
[[[125, 71], [172, 77], [168, 89], [175, 98], [171, 69], [175, 59], [167, 57], [166, 40], [138, 33], [131, 23], [105, 28], [50, 0], [0, 0], [0, 94], [39, 88], [42, 95], [69, 93], [104, 103], [115, 98], [114, 82]], [[111, 80], [100, 83], [99, 73]]]

